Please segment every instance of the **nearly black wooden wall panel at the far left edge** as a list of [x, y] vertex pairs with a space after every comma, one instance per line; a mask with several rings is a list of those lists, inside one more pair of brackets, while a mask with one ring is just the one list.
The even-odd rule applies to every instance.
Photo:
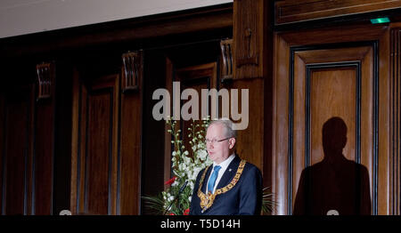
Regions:
[[[20, 93], [20, 94], [17, 94]], [[32, 155], [33, 85], [5, 91], [2, 151], [2, 214], [29, 213], [29, 157]]]

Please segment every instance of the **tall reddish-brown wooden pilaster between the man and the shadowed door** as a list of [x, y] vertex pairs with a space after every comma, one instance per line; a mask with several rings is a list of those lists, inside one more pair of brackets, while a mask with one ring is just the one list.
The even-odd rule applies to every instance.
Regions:
[[[234, 1], [233, 88], [250, 92], [249, 125], [238, 133], [237, 149], [272, 186], [273, 1]], [[250, 79], [250, 80], [242, 80]], [[224, 84], [230, 86], [230, 84]], [[240, 91], [241, 92], [241, 91]]]

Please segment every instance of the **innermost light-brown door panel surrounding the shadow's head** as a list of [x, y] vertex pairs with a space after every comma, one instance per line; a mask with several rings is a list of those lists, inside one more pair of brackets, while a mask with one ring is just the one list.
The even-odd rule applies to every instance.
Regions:
[[348, 126], [348, 142], [343, 152], [345, 157], [355, 161], [355, 68], [316, 70], [310, 81], [310, 165], [323, 159], [322, 125], [331, 116], [340, 116]]

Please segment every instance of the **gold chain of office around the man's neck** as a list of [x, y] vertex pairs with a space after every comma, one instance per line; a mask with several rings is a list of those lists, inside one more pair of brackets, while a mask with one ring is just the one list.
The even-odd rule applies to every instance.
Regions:
[[235, 176], [233, 177], [233, 180], [225, 187], [223, 187], [221, 189], [216, 189], [215, 193], [208, 192], [207, 194], [204, 194], [201, 191], [203, 181], [205, 180], [206, 173], [208, 172], [210, 166], [208, 166], [208, 168], [205, 169], [205, 171], [203, 172], [203, 174], [201, 176], [201, 181], [200, 181], [199, 189], [198, 189], [198, 197], [201, 198], [202, 213], [204, 211], [206, 211], [207, 209], [209, 209], [209, 207], [211, 205], [213, 205], [213, 202], [215, 201], [215, 198], [217, 195], [223, 194], [223, 193], [229, 191], [230, 189], [233, 189], [235, 184], [237, 184], [237, 182], [240, 180], [241, 173], [242, 173], [243, 168], [245, 167], [246, 163], [247, 163], [247, 161], [242, 159], [240, 165], [238, 166], [237, 173], [235, 173]]

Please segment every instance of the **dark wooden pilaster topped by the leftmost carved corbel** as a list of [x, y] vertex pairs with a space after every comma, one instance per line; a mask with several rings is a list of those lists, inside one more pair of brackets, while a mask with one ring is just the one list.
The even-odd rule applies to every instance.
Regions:
[[33, 157], [33, 213], [53, 213], [53, 162], [55, 68], [53, 63], [37, 65], [35, 154]]

